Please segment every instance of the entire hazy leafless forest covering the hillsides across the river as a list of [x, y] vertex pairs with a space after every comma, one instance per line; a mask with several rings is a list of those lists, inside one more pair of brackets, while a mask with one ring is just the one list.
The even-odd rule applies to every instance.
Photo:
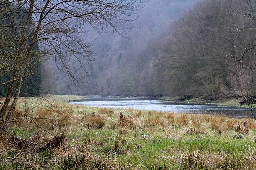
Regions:
[[72, 60], [69, 66], [81, 74], [76, 81], [58, 63], [41, 63], [41, 93], [213, 100], [254, 95], [255, 9], [255, 0], [146, 0], [127, 38], [113, 30], [88, 32], [95, 55], [88, 76]]

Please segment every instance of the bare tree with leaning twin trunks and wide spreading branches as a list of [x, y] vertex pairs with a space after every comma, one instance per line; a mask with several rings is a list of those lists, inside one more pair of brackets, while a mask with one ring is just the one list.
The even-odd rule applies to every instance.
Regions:
[[[12, 79], [27, 74], [31, 61], [53, 60], [58, 69], [79, 83], [89, 75], [95, 57], [87, 37], [90, 29], [103, 33], [109, 27], [114, 34], [128, 36], [131, 22], [139, 16], [144, 0], [1, 0], [0, 68]], [[9, 30], [10, 34], [5, 34]], [[14, 35], [13, 35], [14, 33]], [[12, 34], [12, 35], [11, 35]], [[5, 42], [6, 41], [6, 42]], [[38, 45], [40, 51], [34, 46]], [[76, 60], [83, 75], [77, 75], [69, 63]], [[10, 117], [16, 106], [22, 79], [9, 85], [1, 109], [1, 119]], [[12, 89], [15, 98], [7, 113]]]

